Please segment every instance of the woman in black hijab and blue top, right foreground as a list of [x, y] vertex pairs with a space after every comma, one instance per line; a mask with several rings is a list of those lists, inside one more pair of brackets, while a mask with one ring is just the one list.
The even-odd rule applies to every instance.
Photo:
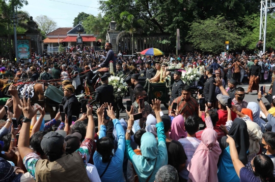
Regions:
[[[228, 135], [235, 140], [239, 159], [243, 165], [246, 165], [248, 163], [247, 153], [250, 145], [248, 127], [246, 123], [242, 119], [236, 118], [232, 123]], [[220, 156], [218, 163], [218, 181], [239, 182], [240, 179], [234, 169], [232, 159], [230, 157], [229, 144], [226, 142], [226, 139], [227, 136], [224, 136], [221, 141], [219, 141], [219, 147], [222, 149], [223, 153]]]

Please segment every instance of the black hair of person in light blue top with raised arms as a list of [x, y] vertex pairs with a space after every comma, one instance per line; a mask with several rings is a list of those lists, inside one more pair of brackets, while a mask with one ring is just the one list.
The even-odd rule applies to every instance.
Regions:
[[102, 156], [102, 162], [109, 162], [114, 149], [114, 140], [108, 137], [96, 141], [96, 151]]

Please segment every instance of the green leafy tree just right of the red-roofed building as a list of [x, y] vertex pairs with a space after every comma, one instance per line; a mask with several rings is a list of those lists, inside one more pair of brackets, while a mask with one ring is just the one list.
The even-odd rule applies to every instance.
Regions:
[[101, 40], [101, 42], [105, 41], [108, 21], [100, 13], [97, 16], [90, 15], [83, 21], [82, 25], [87, 34], [94, 34], [96, 39]]

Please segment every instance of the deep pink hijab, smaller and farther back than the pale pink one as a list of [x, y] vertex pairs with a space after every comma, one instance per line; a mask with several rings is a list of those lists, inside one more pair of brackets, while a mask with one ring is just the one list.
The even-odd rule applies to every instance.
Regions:
[[178, 141], [180, 138], [185, 138], [187, 136], [184, 130], [184, 118], [182, 115], [176, 116], [172, 120], [170, 138]]

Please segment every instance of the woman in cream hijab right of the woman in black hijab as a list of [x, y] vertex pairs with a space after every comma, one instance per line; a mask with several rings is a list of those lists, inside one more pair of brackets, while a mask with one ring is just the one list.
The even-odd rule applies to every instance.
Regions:
[[252, 159], [260, 152], [260, 143], [259, 141], [263, 137], [263, 132], [257, 123], [251, 121], [245, 121], [246, 125], [248, 126], [248, 133], [249, 133], [249, 154], [248, 154], [248, 163], [245, 167], [253, 171], [251, 161]]

